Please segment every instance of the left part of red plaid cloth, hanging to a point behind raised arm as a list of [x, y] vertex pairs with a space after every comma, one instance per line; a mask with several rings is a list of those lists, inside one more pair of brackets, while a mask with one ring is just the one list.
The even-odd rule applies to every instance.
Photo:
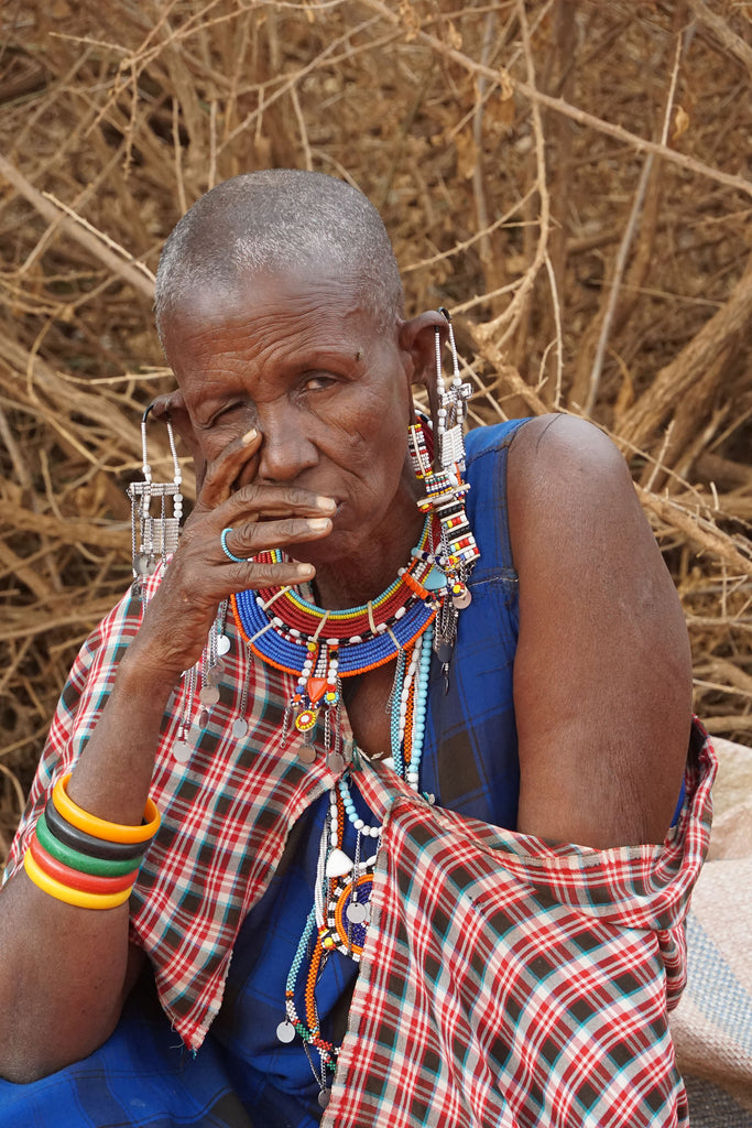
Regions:
[[[159, 574], [149, 581], [150, 597]], [[63, 689], [29, 802], [14, 839], [6, 879], [21, 864], [54, 782], [76, 765], [112, 690], [142, 603], [126, 596], [82, 646]], [[235, 628], [228, 623], [228, 633]], [[162, 822], [131, 896], [131, 938], [151, 959], [160, 1002], [180, 1038], [198, 1049], [222, 1003], [232, 945], [248, 909], [264, 893], [287, 835], [336, 777], [325, 758], [303, 764], [294, 743], [282, 748], [282, 717], [292, 675], [248, 664], [235, 642], [223, 658], [221, 699], [188, 764], [172, 756], [182, 700], [165, 713], [151, 795]], [[248, 737], [237, 740], [248, 678]], [[195, 699], [191, 720], [202, 710]], [[343, 737], [352, 731], [343, 711]]]

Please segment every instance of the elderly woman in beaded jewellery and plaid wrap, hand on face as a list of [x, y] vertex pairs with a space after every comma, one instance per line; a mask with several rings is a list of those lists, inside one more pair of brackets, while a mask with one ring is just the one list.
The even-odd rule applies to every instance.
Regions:
[[322, 175], [200, 200], [157, 317], [197, 502], [150, 575], [179, 474], [133, 487], [14, 845], [2, 1123], [685, 1123], [710, 756], [622, 459], [466, 451], [448, 318]]

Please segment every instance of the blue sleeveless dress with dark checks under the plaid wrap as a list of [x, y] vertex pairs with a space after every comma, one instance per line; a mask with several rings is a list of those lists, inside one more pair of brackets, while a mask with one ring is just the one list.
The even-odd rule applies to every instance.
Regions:
[[[523, 421], [467, 437], [468, 515], [480, 548], [472, 602], [445, 682], [434, 658], [422, 761], [436, 802], [515, 828], [519, 763], [512, 668], [517, 583], [506, 517], [506, 456]], [[357, 802], [357, 799], [356, 799]], [[147, 968], [113, 1036], [90, 1057], [30, 1085], [0, 1081], [3, 1128], [316, 1128], [319, 1086], [298, 1039], [283, 1045], [284, 990], [313, 899], [328, 797], [297, 823], [272, 883], [244, 922], [222, 1008], [195, 1056], [157, 1002]], [[361, 810], [369, 821], [369, 812]], [[350, 825], [345, 848], [354, 847]], [[352, 855], [351, 855], [352, 856]], [[317, 986], [325, 1037], [342, 1037], [356, 964], [338, 952]], [[298, 1003], [299, 1013], [302, 999]]]

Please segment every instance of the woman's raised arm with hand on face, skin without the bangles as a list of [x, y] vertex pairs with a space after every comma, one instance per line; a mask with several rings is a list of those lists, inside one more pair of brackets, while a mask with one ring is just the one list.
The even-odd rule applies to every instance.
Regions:
[[[117, 823], [141, 822], [169, 695], [201, 658], [219, 603], [244, 588], [300, 583], [310, 565], [231, 563], [326, 536], [334, 502], [287, 486], [233, 491], [258, 437], [228, 444], [207, 467], [180, 546], [121, 660], [113, 690], [76, 764], [69, 795]], [[318, 525], [311, 525], [318, 520]], [[21, 867], [0, 893], [0, 1075], [29, 1082], [90, 1054], [112, 1033], [133, 980], [127, 904], [79, 908], [38, 889]]]

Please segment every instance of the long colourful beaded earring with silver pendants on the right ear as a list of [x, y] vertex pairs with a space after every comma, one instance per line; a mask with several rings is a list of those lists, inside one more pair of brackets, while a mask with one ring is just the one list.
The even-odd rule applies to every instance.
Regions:
[[[434, 650], [449, 673], [449, 663], [457, 637], [457, 620], [463, 607], [470, 603], [468, 579], [480, 556], [476, 539], [465, 512], [465, 496], [470, 488], [462, 481], [465, 472], [463, 428], [467, 400], [471, 395], [469, 384], [462, 382], [459, 355], [454, 341], [452, 318], [443, 306], [439, 310], [449, 326], [449, 345], [452, 356], [452, 380], [444, 384], [441, 331], [435, 329], [436, 384], [430, 396], [434, 415], [433, 434], [426, 430], [427, 421], [418, 418], [409, 428], [409, 451], [415, 475], [423, 483], [425, 496], [418, 501], [422, 512], [433, 511], [441, 525], [441, 548], [437, 553], [423, 554], [446, 576], [445, 599], [439, 609], [434, 629]], [[432, 441], [433, 440], [433, 441]], [[433, 448], [433, 457], [432, 457]]]

